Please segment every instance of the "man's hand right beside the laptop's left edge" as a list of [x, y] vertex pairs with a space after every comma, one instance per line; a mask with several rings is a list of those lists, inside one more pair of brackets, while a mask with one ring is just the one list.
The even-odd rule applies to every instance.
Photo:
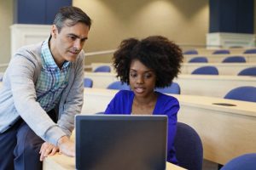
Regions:
[[75, 156], [75, 145], [67, 136], [62, 136], [61, 139], [58, 140], [58, 147], [62, 154], [71, 157]]

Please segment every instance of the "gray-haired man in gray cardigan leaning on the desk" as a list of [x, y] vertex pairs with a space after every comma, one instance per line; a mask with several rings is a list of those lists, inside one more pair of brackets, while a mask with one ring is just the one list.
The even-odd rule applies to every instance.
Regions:
[[84, 98], [84, 52], [91, 20], [64, 7], [50, 37], [20, 48], [0, 90], [0, 169], [41, 169], [57, 150], [74, 156], [69, 139]]

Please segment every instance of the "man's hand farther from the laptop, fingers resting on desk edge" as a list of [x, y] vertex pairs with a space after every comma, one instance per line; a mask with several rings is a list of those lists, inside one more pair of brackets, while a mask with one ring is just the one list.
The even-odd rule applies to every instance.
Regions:
[[55, 153], [59, 150], [58, 147], [56, 147], [54, 144], [49, 144], [48, 142], [44, 142], [42, 144], [41, 149], [39, 151], [40, 161], [44, 161], [44, 158], [47, 156], [53, 156]]

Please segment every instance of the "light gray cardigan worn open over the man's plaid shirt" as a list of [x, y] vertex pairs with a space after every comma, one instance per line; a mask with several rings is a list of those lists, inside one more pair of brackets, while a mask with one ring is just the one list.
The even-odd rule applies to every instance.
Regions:
[[0, 133], [6, 131], [22, 117], [39, 137], [57, 144], [61, 136], [71, 135], [74, 116], [81, 112], [84, 102], [84, 51], [71, 62], [67, 88], [56, 108], [58, 122], [53, 122], [36, 101], [35, 84], [42, 68], [39, 44], [20, 48], [11, 59], [3, 76], [0, 90]]

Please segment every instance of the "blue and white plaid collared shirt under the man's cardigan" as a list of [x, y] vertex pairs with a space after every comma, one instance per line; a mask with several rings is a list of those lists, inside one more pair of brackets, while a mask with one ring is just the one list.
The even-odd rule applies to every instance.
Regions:
[[49, 50], [49, 39], [42, 45], [42, 70], [36, 84], [37, 101], [44, 109], [50, 111], [61, 99], [63, 89], [67, 87], [70, 63], [65, 62], [61, 69], [56, 65]]

